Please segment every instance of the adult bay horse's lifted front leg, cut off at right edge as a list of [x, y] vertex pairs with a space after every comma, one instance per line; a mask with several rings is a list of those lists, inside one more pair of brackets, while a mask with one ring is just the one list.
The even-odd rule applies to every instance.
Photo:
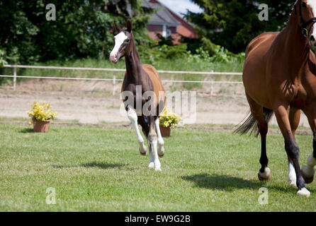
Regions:
[[[315, 105], [313, 105], [315, 106]], [[312, 155], [310, 155], [307, 159], [307, 165], [302, 167], [302, 174], [305, 179], [306, 184], [312, 183], [314, 180], [314, 166], [316, 165], [316, 109], [315, 107], [311, 107], [312, 110], [305, 110], [305, 114], [307, 116], [308, 122], [310, 124], [310, 129], [312, 129]]]

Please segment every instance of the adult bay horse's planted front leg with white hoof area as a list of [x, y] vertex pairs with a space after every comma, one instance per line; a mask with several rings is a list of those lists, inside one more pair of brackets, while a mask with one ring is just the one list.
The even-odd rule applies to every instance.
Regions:
[[308, 197], [310, 196], [310, 191], [305, 188], [305, 181], [302, 173], [300, 172], [300, 149], [295, 142], [292, 129], [290, 128], [290, 120], [288, 118], [290, 107], [289, 105], [276, 105], [273, 111], [276, 114], [278, 126], [280, 127], [284, 137], [286, 153], [288, 154], [289, 161], [293, 162], [293, 168], [296, 174], [296, 185], [298, 186], [298, 195]]

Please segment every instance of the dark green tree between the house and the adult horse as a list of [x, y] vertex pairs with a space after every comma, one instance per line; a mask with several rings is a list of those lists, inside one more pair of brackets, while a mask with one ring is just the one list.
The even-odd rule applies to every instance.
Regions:
[[[232, 52], [243, 52], [247, 44], [266, 31], [284, 28], [293, 7], [293, 0], [191, 0], [202, 13], [188, 11], [186, 19], [196, 25], [205, 46], [220, 44]], [[269, 6], [269, 20], [258, 18], [259, 4]], [[211, 48], [210, 48], [211, 52]]]

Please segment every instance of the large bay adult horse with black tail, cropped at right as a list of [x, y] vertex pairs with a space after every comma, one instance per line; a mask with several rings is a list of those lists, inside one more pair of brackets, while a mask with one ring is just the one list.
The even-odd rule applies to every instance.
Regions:
[[[260, 180], [271, 179], [266, 156], [266, 133], [274, 112], [285, 140], [288, 180], [298, 186], [298, 195], [310, 196], [305, 182], [314, 177], [316, 165], [316, 1], [295, 2], [288, 25], [281, 32], [266, 32], [249, 43], [243, 70], [244, 90], [251, 115], [237, 131], [258, 128], [261, 135]], [[306, 114], [313, 133], [313, 153], [300, 170], [295, 130], [300, 109]]]

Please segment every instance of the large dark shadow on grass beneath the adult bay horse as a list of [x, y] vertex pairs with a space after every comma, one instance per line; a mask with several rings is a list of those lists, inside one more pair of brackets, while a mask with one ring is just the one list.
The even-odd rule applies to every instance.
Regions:
[[286, 181], [284, 181], [284, 186], [278, 186], [276, 184], [269, 185], [269, 182], [247, 180], [240, 177], [232, 177], [229, 175], [195, 174], [191, 176], [181, 177], [181, 179], [185, 179], [189, 182], [194, 182], [199, 188], [218, 189], [224, 191], [234, 191], [235, 189], [259, 190], [263, 186], [265, 186], [269, 190], [278, 190], [291, 193], [293, 191], [297, 191], [297, 189], [290, 186], [290, 184], [288, 184], [288, 182]]

